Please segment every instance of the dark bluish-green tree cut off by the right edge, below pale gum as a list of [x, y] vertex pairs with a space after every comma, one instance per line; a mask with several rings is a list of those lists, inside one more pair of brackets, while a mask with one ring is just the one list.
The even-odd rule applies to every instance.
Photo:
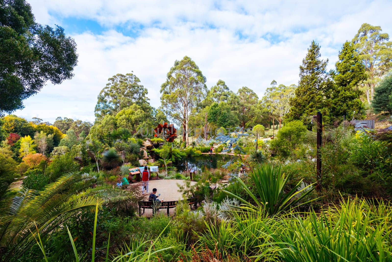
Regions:
[[376, 113], [392, 112], [392, 75], [385, 77], [376, 88], [374, 88], [374, 99], [372, 106]]

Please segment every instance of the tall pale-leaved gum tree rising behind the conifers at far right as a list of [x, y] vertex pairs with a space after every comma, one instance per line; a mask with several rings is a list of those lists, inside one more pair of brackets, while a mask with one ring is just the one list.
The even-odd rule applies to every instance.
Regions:
[[372, 103], [374, 86], [392, 68], [392, 42], [389, 35], [381, 31], [381, 26], [364, 23], [352, 39], [367, 73], [363, 91], [368, 104]]

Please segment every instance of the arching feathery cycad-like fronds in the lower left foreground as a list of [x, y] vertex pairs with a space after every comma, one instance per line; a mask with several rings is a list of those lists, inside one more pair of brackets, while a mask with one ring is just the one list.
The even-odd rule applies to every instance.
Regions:
[[97, 201], [102, 205], [130, 198], [103, 179], [80, 173], [65, 174], [42, 191], [9, 189], [7, 194], [0, 206], [0, 246], [7, 249], [3, 257], [6, 261], [31, 248], [36, 226], [44, 236], [80, 211], [94, 210]]

